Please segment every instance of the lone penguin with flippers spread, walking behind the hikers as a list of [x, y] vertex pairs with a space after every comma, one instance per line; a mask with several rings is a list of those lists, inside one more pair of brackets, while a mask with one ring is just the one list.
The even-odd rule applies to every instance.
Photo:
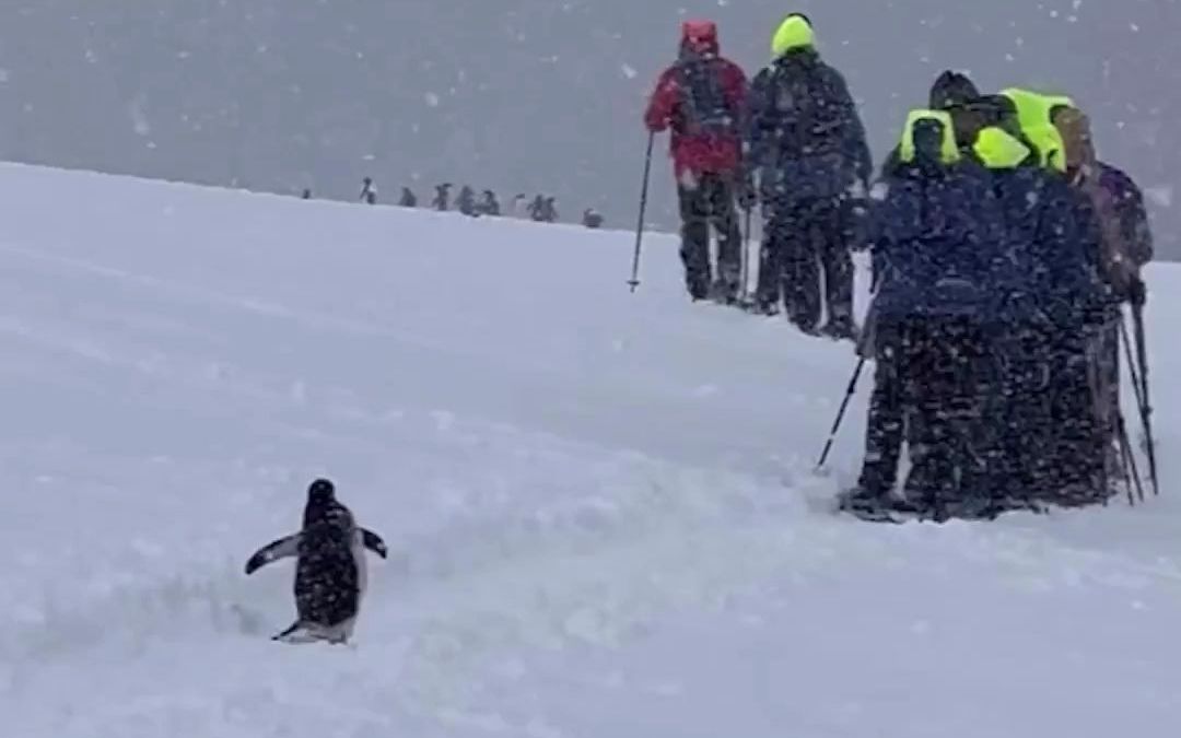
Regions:
[[347, 644], [365, 596], [365, 549], [381, 559], [389, 555], [381, 536], [357, 525], [332, 482], [312, 482], [304, 528], [263, 546], [246, 562], [250, 575], [273, 561], [296, 557], [295, 622], [270, 640]]

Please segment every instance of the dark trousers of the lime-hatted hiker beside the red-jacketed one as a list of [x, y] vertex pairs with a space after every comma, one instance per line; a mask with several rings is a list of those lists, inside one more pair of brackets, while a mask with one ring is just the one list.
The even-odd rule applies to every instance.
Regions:
[[[815, 332], [827, 302], [829, 319], [853, 318], [853, 259], [841, 196], [779, 196], [770, 209], [759, 254], [756, 302], [770, 311], [782, 299], [788, 318]], [[821, 269], [824, 296], [821, 296]]]

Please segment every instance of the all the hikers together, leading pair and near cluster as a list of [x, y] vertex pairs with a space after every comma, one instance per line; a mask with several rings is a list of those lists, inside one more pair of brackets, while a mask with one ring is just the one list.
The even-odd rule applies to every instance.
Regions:
[[[1125, 306], [1142, 316], [1153, 242], [1141, 191], [1098, 161], [1087, 116], [1068, 97], [983, 94], [948, 71], [875, 176], [809, 19], [789, 15], [771, 46], [748, 86], [713, 24], [684, 24], [645, 123], [672, 130], [690, 295], [738, 300], [738, 209], [761, 203], [753, 307], [782, 302], [802, 331], [855, 339], [874, 363], [866, 458], [842, 508], [947, 520], [1105, 502], [1134, 458], [1121, 335]], [[861, 248], [873, 302], [857, 331]]]

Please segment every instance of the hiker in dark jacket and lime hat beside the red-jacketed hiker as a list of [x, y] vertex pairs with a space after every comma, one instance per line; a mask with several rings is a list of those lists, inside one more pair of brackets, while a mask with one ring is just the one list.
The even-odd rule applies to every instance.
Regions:
[[816, 51], [808, 18], [783, 21], [772, 55], [751, 83], [745, 113], [765, 221], [756, 307], [774, 313], [782, 296], [805, 333], [852, 339], [854, 213], [873, 175], [864, 126], [844, 77]]

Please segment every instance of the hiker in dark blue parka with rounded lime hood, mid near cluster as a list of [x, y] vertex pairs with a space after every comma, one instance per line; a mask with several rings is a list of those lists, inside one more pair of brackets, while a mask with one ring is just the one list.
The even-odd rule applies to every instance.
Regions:
[[1011, 504], [1094, 502], [1102, 455], [1081, 344], [1098, 296], [1088, 235], [1066, 182], [1039, 164], [1027, 142], [987, 128], [974, 151], [991, 172], [1005, 226], [991, 268], [1005, 328], [996, 344], [1005, 400], [997, 414], [1004, 418], [998, 494]]

